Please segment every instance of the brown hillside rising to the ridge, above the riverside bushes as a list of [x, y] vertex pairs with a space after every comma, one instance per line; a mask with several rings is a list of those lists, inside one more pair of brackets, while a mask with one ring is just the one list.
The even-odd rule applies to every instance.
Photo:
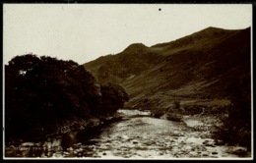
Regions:
[[84, 66], [99, 82], [121, 84], [129, 108], [169, 108], [173, 100], [226, 105], [250, 91], [250, 27], [208, 27], [151, 47], [135, 43]]

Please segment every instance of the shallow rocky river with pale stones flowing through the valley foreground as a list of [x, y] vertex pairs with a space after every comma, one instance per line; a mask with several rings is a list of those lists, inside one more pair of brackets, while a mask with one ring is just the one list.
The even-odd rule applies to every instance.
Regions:
[[[189, 127], [183, 122], [172, 122], [150, 117], [150, 112], [119, 110], [124, 115], [121, 121], [111, 123], [99, 131], [70, 133], [69, 143], [63, 150], [63, 136], [54, 137], [37, 150], [32, 142], [16, 147], [9, 156], [39, 158], [237, 158], [230, 153], [230, 146], [218, 145], [209, 132]], [[194, 122], [193, 122], [194, 123]], [[62, 143], [61, 143], [62, 141]], [[70, 142], [71, 141], [71, 142]], [[30, 144], [31, 143], [31, 144]], [[67, 144], [69, 144], [67, 146]], [[61, 146], [62, 145], [62, 146]], [[20, 152], [21, 147], [28, 147]], [[29, 149], [30, 150], [26, 150]], [[232, 147], [233, 148], [233, 147]], [[36, 152], [35, 152], [36, 151]]]

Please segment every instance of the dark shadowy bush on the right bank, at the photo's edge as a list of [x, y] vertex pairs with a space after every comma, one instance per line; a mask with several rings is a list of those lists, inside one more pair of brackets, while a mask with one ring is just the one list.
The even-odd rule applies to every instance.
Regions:
[[229, 144], [239, 144], [251, 149], [251, 95], [250, 85], [239, 89], [232, 87], [231, 104], [227, 107], [228, 117], [216, 136]]

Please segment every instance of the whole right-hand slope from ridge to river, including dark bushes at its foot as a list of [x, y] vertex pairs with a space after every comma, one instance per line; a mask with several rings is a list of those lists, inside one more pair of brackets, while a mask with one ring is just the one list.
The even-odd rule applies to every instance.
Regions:
[[[153, 116], [165, 115], [171, 120], [179, 120], [180, 114], [220, 114], [225, 117], [224, 126], [217, 136], [229, 143], [248, 146], [250, 36], [251, 27], [235, 30], [208, 27], [152, 47], [132, 44], [119, 54], [84, 66], [94, 70], [99, 81], [123, 85], [130, 96], [126, 108], [151, 110]], [[176, 98], [180, 101], [177, 108], [182, 109], [173, 109]]]

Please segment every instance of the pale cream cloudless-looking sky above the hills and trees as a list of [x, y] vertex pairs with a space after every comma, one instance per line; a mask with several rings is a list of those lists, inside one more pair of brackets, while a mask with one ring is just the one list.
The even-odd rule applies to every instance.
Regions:
[[33, 53], [79, 64], [131, 43], [152, 46], [206, 27], [252, 26], [252, 5], [4, 4], [3, 60]]

